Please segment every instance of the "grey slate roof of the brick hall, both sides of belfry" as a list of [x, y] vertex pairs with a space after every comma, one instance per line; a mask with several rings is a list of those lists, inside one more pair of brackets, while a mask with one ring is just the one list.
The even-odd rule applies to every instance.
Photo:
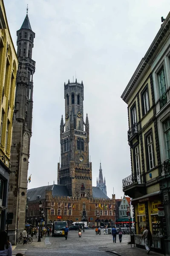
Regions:
[[[49, 185], [34, 189], [27, 189], [27, 198], [29, 198], [29, 201], [45, 199], [46, 190], [52, 190], [53, 196], [70, 196], [66, 185]], [[40, 195], [40, 198], [37, 198], [37, 195]], [[109, 197], [105, 195], [100, 188], [97, 187], [92, 187], [92, 197], [109, 199]]]

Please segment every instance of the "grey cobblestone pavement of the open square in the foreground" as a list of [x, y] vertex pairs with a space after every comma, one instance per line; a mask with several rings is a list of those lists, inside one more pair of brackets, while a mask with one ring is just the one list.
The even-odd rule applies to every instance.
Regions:
[[[43, 251], [44, 253], [47, 250], [50, 254], [50, 251], [62, 250], [67, 253], [68, 250], [79, 250], [79, 251], [103, 251], [103, 252], [112, 252], [119, 256], [143, 256], [147, 255], [147, 251], [137, 247], [132, 247], [130, 244], [127, 244], [130, 241], [130, 235], [123, 235], [122, 242], [119, 242], [118, 236], [116, 243], [113, 243], [111, 235], [104, 235], [101, 233], [101, 236], [95, 235], [95, 230], [85, 230], [82, 232], [82, 237], [78, 237], [78, 231], [72, 230], [69, 232], [68, 239], [65, 240], [64, 237], [47, 237], [44, 236], [41, 239], [41, 242], [37, 242], [38, 239], [33, 237], [32, 244], [17, 244], [15, 250], [26, 250], [25, 255], [42, 255], [38, 253], [38, 250]], [[67, 251], [66, 251], [67, 250]], [[84, 254], [85, 255], [85, 254]], [[88, 254], [87, 254], [88, 255]], [[150, 252], [150, 255], [162, 256], [162, 254]]]

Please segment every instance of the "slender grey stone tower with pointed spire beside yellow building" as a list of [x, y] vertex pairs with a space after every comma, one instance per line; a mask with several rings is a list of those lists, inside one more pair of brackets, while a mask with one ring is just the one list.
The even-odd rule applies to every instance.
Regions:
[[16, 83], [14, 121], [11, 146], [11, 171], [9, 179], [8, 212], [14, 213], [9, 225], [12, 244], [25, 228], [26, 191], [29, 165], [30, 139], [32, 136], [33, 74], [32, 60], [35, 33], [32, 31], [28, 8], [25, 20], [17, 31], [18, 73]]

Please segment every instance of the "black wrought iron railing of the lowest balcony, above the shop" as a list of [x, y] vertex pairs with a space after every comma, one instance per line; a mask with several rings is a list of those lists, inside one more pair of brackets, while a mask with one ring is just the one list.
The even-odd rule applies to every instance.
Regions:
[[144, 184], [143, 175], [133, 173], [130, 176], [126, 177], [122, 180], [123, 183], [123, 189], [126, 189], [129, 186], [132, 186], [134, 184]]

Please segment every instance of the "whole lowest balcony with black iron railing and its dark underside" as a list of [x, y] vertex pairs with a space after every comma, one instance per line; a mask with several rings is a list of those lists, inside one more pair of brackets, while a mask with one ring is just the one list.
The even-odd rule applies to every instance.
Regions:
[[145, 187], [144, 175], [133, 173], [122, 180], [123, 191], [126, 195], [133, 197], [134, 191], [138, 188], [138, 192], [142, 192], [143, 187]]

